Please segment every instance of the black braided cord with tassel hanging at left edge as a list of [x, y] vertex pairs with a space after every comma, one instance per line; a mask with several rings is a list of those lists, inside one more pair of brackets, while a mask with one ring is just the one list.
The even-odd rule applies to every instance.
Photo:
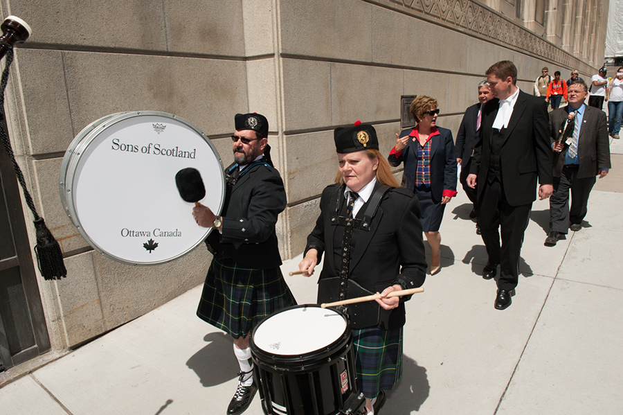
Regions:
[[24, 174], [21, 173], [21, 168], [19, 168], [17, 161], [15, 161], [15, 154], [13, 154], [10, 139], [4, 129], [4, 90], [6, 89], [6, 84], [8, 82], [9, 67], [11, 65], [11, 62], [13, 61], [13, 48], [11, 45], [7, 46], [8, 51], [6, 52], [6, 62], [0, 82], [0, 138], [2, 139], [6, 153], [10, 157], [13, 164], [15, 175], [17, 175], [17, 181], [19, 182], [22, 191], [24, 192], [24, 199], [26, 200], [26, 204], [28, 204], [28, 208], [30, 208], [30, 211], [32, 211], [33, 215], [35, 216], [34, 223], [37, 235], [35, 254], [37, 254], [37, 265], [39, 266], [39, 271], [46, 280], [62, 279], [62, 277], [67, 276], [67, 270], [65, 269], [62, 250], [60, 249], [60, 245], [58, 245], [57, 240], [54, 238], [48, 227], [46, 227], [46, 222], [44, 222], [44, 218], [41, 218], [39, 214], [37, 214], [37, 210], [35, 209], [35, 203], [33, 202], [33, 197], [30, 196], [30, 193], [26, 188], [26, 180], [24, 180]]

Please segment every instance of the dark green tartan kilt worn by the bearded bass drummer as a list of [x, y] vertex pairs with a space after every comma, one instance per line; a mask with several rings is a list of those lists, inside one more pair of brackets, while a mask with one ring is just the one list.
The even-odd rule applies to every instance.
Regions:
[[249, 335], [272, 312], [295, 305], [279, 267], [258, 270], [213, 258], [197, 317], [237, 339]]

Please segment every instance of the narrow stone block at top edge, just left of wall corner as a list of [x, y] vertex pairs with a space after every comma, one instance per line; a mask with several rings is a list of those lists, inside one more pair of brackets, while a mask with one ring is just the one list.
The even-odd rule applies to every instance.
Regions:
[[[222, 4], [222, 1], [217, 1]], [[275, 53], [273, 2], [270, 0], [242, 0], [244, 24], [244, 55], [247, 57]]]

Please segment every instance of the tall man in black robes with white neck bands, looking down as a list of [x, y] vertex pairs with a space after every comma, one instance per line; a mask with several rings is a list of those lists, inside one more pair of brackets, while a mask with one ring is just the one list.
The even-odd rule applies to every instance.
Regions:
[[482, 278], [494, 278], [500, 264], [494, 306], [504, 310], [515, 293], [523, 233], [536, 199], [537, 178], [539, 199], [552, 195], [552, 148], [547, 106], [516, 87], [513, 62], [497, 62], [486, 74], [495, 98], [482, 108], [480, 139], [467, 184], [476, 188], [478, 183], [478, 220], [489, 254]]

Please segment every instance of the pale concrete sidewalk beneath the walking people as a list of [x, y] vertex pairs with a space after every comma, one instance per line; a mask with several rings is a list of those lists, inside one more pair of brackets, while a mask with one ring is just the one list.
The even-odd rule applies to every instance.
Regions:
[[[623, 168], [623, 145], [611, 149]], [[487, 254], [459, 192], [440, 230], [442, 271], [407, 303], [403, 377], [381, 414], [623, 414], [622, 170], [598, 182], [585, 227], [555, 247], [543, 246], [548, 202], [534, 203], [504, 311], [480, 277]], [[282, 271], [297, 301], [314, 303], [316, 279], [287, 276], [299, 261]], [[237, 362], [231, 339], [195, 316], [200, 294], [6, 385], [0, 414], [225, 414]], [[245, 414], [262, 414], [259, 396]]]

